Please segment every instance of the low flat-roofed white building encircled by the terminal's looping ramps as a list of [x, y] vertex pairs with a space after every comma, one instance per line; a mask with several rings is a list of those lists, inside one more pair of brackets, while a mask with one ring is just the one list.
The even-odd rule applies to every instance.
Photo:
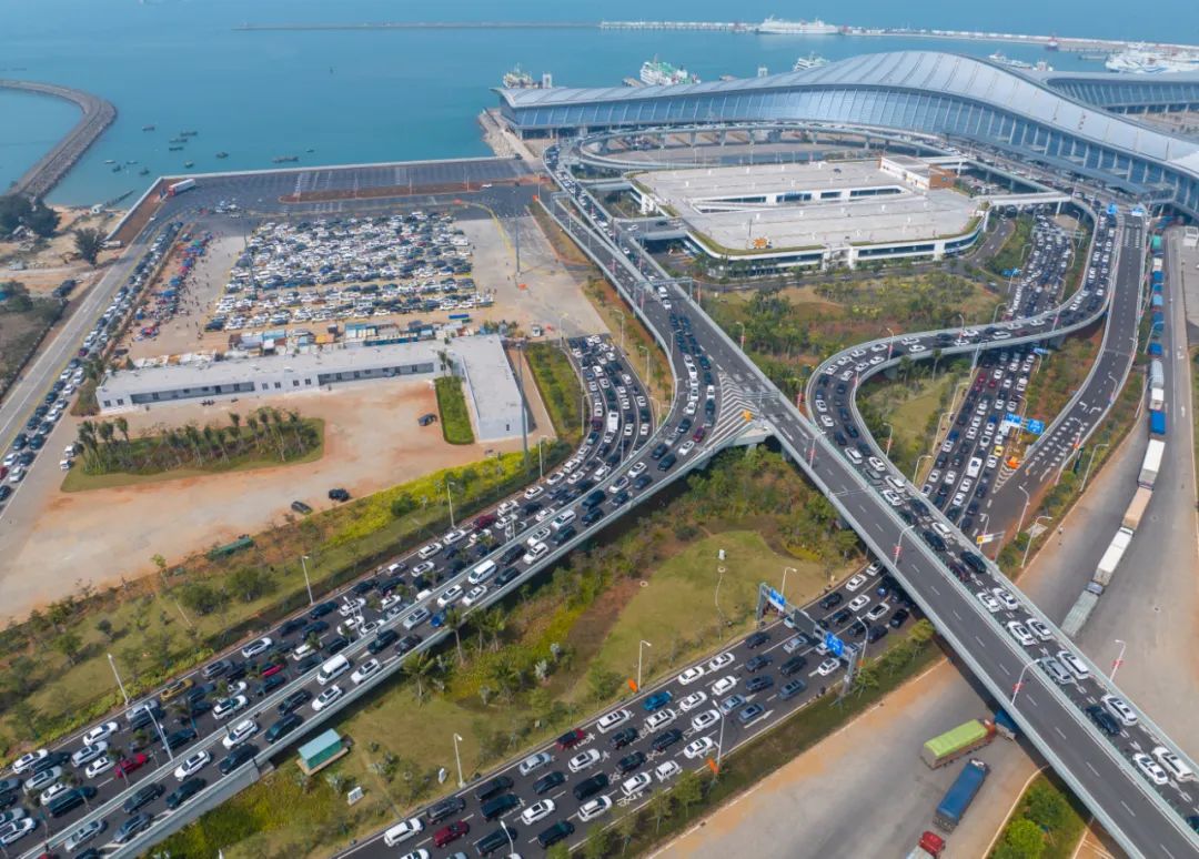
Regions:
[[703, 167], [631, 176], [645, 214], [676, 216], [716, 267], [856, 267], [934, 259], [970, 248], [984, 196], [954, 189], [958, 158]]

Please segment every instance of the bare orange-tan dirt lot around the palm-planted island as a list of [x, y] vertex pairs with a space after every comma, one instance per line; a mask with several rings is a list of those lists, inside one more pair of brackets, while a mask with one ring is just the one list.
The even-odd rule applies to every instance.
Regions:
[[[22, 503], [0, 521], [0, 557], [5, 558], [0, 616], [23, 617], [71, 592], [80, 580], [98, 585], [150, 573], [156, 553], [176, 561], [257, 531], [282, 520], [293, 500], [323, 508], [332, 503], [326, 492], [333, 486], [360, 496], [436, 468], [481, 460], [492, 450], [520, 448], [519, 437], [451, 446], [442, 440], [440, 425], [417, 427], [418, 415], [436, 411], [427, 381], [374, 381], [333, 392], [209, 407], [173, 406], [126, 417], [129, 432], [137, 435], [143, 427], [165, 422], [227, 423], [230, 411], [245, 416], [259, 405], [324, 418], [325, 455], [309, 464], [73, 494], [59, 490], [62, 473], [56, 468], [34, 470], [22, 488]], [[553, 428], [540, 413], [537, 404], [535, 419], [544, 421], [537, 435], [552, 435]], [[73, 423], [64, 421], [48, 447], [61, 448], [74, 431]]]

